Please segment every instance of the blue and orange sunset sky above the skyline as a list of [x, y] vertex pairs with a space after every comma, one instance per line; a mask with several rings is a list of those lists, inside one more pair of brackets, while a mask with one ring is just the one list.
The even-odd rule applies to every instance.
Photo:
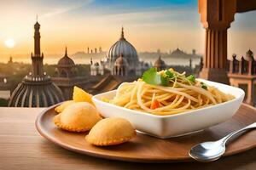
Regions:
[[[205, 31], [196, 0], [9, 0], [0, 1], [0, 57], [30, 57], [33, 25], [41, 25], [44, 56], [102, 47], [125, 38], [137, 51], [195, 48], [203, 54]], [[256, 53], [256, 12], [236, 14], [228, 37], [229, 55]]]

